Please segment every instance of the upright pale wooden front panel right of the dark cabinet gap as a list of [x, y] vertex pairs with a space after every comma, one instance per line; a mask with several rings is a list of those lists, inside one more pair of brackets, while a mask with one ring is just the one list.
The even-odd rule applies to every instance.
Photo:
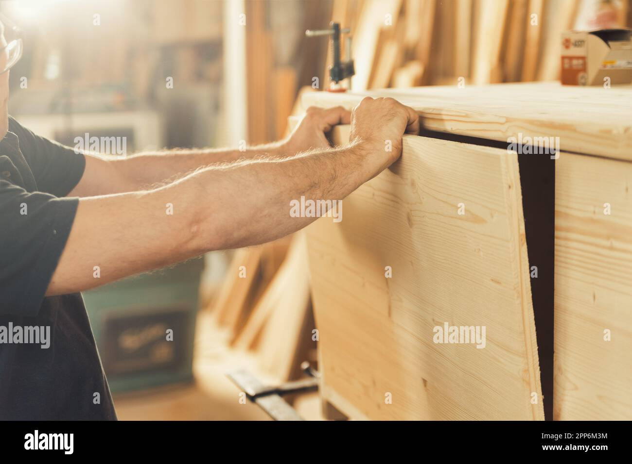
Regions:
[[632, 163], [556, 170], [554, 419], [632, 420]]

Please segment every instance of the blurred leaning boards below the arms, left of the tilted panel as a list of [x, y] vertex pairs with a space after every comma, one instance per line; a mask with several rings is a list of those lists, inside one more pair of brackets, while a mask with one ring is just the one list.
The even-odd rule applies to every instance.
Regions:
[[300, 376], [313, 356], [314, 327], [305, 238], [235, 251], [210, 309], [228, 345], [258, 359], [277, 382]]

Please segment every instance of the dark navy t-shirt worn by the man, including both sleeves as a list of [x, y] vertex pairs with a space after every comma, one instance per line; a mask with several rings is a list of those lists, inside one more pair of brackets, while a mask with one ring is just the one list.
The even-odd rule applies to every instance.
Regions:
[[81, 153], [9, 117], [0, 141], [0, 420], [116, 419], [82, 295], [44, 297], [78, 206], [66, 195], [84, 169]]

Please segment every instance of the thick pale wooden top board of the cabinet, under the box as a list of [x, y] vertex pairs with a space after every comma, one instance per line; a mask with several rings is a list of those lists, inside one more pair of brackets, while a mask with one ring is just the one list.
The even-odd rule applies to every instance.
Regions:
[[559, 137], [569, 152], [632, 160], [632, 86], [518, 83], [308, 93], [308, 105], [353, 108], [365, 95], [393, 97], [423, 116], [427, 129], [507, 141], [509, 136]]

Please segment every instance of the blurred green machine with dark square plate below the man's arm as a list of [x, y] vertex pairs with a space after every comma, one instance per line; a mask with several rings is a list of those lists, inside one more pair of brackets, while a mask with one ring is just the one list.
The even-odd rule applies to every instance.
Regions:
[[204, 258], [83, 292], [112, 393], [193, 379]]

